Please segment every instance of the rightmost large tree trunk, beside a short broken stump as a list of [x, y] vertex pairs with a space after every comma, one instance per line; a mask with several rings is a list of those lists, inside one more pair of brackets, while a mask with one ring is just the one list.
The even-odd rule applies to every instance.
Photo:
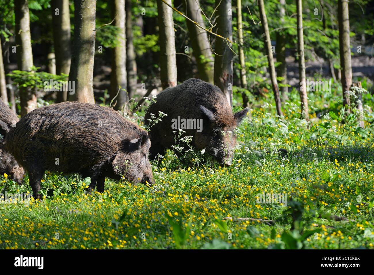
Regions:
[[[352, 64], [350, 56], [348, 0], [338, 0], [338, 21], [343, 105], [349, 108], [350, 100], [349, 96], [347, 96], [347, 91], [349, 91], [349, 88], [352, 85]], [[347, 112], [349, 112], [349, 109], [347, 109]]]

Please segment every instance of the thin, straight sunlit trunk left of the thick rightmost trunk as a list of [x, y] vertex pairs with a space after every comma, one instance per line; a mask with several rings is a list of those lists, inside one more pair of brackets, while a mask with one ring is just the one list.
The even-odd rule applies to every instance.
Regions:
[[301, 116], [309, 120], [308, 95], [306, 91], [304, 32], [303, 32], [303, 4], [296, 0], [297, 8], [297, 53], [299, 61]]

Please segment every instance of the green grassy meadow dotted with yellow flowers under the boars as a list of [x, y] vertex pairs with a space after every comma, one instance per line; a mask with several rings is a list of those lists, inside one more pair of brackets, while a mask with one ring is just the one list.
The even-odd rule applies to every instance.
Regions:
[[[44, 200], [0, 206], [0, 248], [373, 248], [373, 115], [365, 129], [354, 115], [344, 126], [328, 99], [309, 97], [309, 127], [293, 103], [283, 120], [269, 104], [254, 108], [229, 168], [200, 153], [186, 167], [169, 152], [153, 163], [152, 187], [107, 179], [92, 195], [77, 175], [47, 173]], [[330, 118], [315, 119], [317, 109]], [[1, 189], [31, 192], [5, 178]], [[287, 206], [258, 203], [263, 192], [286, 194]]]

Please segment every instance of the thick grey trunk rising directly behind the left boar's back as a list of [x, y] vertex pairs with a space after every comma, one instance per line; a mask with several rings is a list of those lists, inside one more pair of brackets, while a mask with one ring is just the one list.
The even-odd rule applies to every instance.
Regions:
[[95, 57], [96, 0], [74, 0], [74, 37], [69, 82], [74, 93], [69, 101], [95, 103], [93, 98], [93, 61]]

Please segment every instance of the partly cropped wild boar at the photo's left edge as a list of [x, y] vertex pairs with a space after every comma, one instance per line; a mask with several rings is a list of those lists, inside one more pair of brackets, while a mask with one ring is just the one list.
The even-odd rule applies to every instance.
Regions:
[[[18, 122], [17, 115], [0, 100], [0, 134], [6, 136]], [[25, 170], [15, 158], [4, 149], [4, 140], [0, 139], [0, 174], [7, 174], [18, 184], [22, 183]]]

